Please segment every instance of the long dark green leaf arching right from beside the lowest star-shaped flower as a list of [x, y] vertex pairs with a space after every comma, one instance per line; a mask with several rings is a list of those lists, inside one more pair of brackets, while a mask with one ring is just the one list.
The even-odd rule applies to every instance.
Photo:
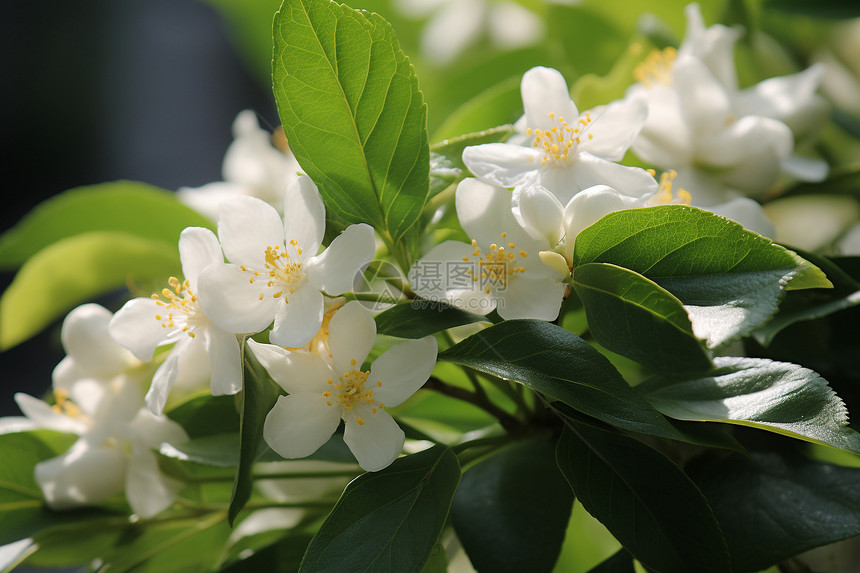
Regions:
[[686, 440], [581, 338], [540, 320], [506, 320], [439, 354], [564, 402], [607, 424]]

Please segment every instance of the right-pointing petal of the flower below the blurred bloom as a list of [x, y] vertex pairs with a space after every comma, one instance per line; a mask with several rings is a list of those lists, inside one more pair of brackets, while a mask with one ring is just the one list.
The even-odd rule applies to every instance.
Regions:
[[306, 267], [308, 283], [330, 295], [352, 292], [356, 279], [373, 259], [373, 227], [350, 225]]

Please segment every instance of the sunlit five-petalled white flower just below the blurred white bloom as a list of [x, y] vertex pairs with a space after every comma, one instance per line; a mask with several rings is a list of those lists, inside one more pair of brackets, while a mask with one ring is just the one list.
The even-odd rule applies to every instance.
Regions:
[[323, 294], [351, 291], [375, 251], [373, 228], [350, 225], [317, 254], [325, 231], [325, 206], [316, 185], [301, 176], [290, 184], [284, 218], [252, 197], [222, 203], [218, 236], [232, 264], [200, 275], [206, 314], [228, 332], [254, 333], [274, 319], [269, 340], [308, 344], [322, 324]]

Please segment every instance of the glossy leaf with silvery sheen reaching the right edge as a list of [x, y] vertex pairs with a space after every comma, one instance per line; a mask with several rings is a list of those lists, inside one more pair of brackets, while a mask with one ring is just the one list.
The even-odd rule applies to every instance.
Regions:
[[678, 420], [727, 422], [860, 453], [845, 404], [817, 373], [787, 362], [730, 356], [707, 376], [639, 386], [655, 408]]

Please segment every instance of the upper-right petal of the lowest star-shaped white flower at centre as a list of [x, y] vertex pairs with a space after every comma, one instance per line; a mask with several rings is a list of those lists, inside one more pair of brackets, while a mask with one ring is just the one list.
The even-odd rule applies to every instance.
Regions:
[[373, 387], [373, 398], [386, 407], [397, 406], [415, 392], [430, 377], [436, 365], [436, 339], [425, 336], [392, 346], [373, 361], [367, 383]]

